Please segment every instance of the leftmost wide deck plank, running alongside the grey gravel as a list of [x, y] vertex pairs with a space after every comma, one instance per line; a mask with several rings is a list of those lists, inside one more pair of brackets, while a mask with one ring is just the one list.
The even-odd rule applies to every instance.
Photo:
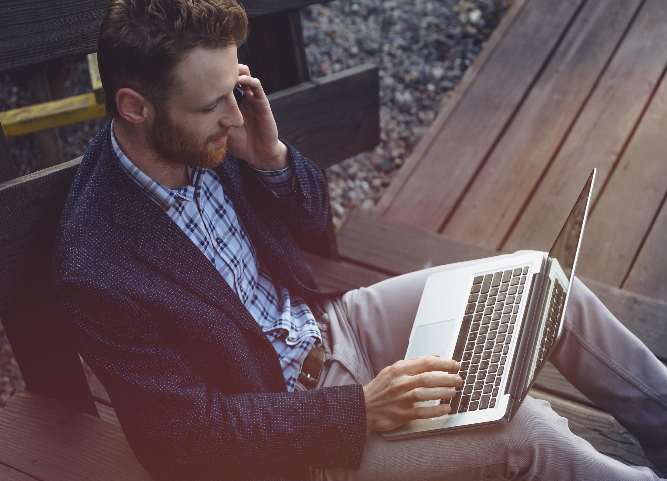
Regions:
[[387, 217], [440, 229], [580, 5], [580, 0], [531, 0], [524, 7], [456, 106], [452, 121], [396, 196]]

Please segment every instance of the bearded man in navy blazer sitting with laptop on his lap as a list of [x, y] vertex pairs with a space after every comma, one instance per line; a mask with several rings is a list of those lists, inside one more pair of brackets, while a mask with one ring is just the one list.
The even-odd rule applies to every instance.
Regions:
[[[234, 0], [112, 0], [101, 27], [113, 121], [65, 203], [53, 290], [142, 466], [178, 480], [654, 479], [530, 397], [509, 423], [382, 438], [446, 414], [414, 402], [461, 384], [456, 360], [400, 360], [426, 277], [460, 264], [319, 289], [297, 240], [323, 231], [325, 181], [277, 137], [237, 63], [246, 38]], [[667, 472], [667, 370], [578, 280], [553, 361]]]

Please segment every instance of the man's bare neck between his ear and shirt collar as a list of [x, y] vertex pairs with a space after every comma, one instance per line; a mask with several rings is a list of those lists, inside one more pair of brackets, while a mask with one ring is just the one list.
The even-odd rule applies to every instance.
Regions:
[[186, 165], [177, 165], [159, 161], [159, 154], [147, 147], [145, 139], [133, 139], [127, 135], [123, 125], [113, 121], [113, 135], [118, 147], [127, 158], [154, 181], [161, 183], [169, 189], [179, 189], [185, 185], [191, 185], [190, 175]]

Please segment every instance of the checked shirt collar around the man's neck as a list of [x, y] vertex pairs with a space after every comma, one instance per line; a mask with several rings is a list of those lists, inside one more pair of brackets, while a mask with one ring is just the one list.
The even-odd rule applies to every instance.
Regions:
[[179, 199], [184, 201], [194, 199], [195, 187], [197, 189], [201, 188], [201, 181], [205, 169], [199, 167], [192, 167], [191, 165], [187, 166], [187, 173], [194, 185], [185, 185], [185, 187], [180, 187], [179, 189], [169, 189], [169, 187], [154, 181], [151, 177], [139, 170], [139, 168], [132, 163], [118, 146], [116, 137], [113, 133], [113, 119], [111, 120], [111, 145], [113, 145], [113, 151], [116, 154], [116, 158], [127, 175], [139, 185], [139, 188], [143, 193], [155, 201], [155, 203], [157, 203], [157, 205], [159, 205], [165, 212], [171, 209], [175, 201]]

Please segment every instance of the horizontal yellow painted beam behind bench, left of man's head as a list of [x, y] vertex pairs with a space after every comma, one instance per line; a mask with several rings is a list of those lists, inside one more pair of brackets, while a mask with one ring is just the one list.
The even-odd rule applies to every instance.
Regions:
[[0, 112], [0, 124], [5, 136], [12, 137], [105, 115], [104, 103], [97, 103], [95, 93], [90, 92]]

